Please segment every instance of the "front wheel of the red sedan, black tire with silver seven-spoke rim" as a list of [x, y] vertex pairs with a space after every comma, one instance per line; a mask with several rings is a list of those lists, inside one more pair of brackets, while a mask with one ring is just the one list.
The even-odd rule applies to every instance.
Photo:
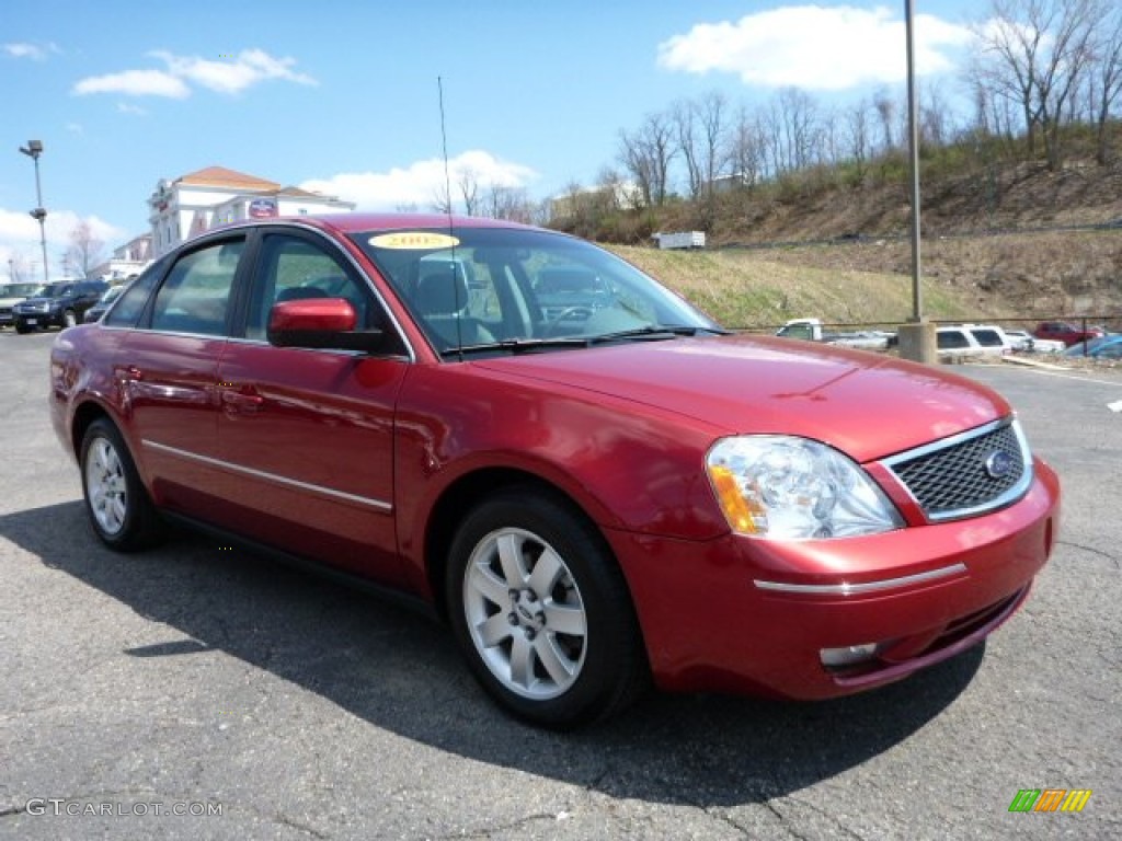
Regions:
[[445, 586], [472, 673], [521, 719], [580, 727], [619, 712], [647, 685], [623, 573], [596, 528], [561, 499], [521, 487], [477, 506], [452, 540]]

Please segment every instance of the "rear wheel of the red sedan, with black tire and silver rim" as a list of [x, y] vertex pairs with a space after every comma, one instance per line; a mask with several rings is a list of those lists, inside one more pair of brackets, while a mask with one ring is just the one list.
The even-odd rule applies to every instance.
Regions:
[[136, 552], [163, 537], [163, 521], [132, 455], [107, 418], [98, 418], [85, 431], [79, 466], [90, 526], [103, 544], [117, 552]]

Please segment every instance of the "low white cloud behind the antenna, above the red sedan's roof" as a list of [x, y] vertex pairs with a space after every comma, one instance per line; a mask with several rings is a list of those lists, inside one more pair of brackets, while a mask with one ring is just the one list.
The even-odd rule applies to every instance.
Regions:
[[[481, 190], [490, 185], [524, 187], [537, 178], [537, 173], [530, 167], [500, 160], [480, 150], [450, 158], [448, 169], [453, 201], [459, 196], [457, 184], [465, 174], [470, 174]], [[340, 173], [327, 179], [306, 181], [300, 186], [355, 202], [359, 210], [389, 211], [410, 204], [426, 210], [443, 195], [444, 184], [444, 161], [429, 158], [386, 173]]]

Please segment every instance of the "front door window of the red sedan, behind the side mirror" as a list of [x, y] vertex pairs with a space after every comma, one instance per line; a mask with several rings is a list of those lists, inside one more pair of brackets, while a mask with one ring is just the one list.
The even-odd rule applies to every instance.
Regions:
[[359, 330], [375, 326], [369, 295], [334, 257], [301, 237], [268, 234], [249, 294], [246, 338], [265, 339], [273, 305], [302, 298], [346, 298], [355, 307]]

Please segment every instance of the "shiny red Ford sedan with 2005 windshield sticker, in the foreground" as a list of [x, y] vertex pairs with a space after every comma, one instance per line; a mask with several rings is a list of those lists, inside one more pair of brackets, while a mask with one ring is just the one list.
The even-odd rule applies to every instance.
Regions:
[[553, 728], [652, 683], [899, 680], [1009, 619], [1057, 534], [1057, 478], [993, 391], [727, 334], [491, 220], [208, 232], [59, 334], [50, 395], [108, 546], [183, 521], [396, 591]]

